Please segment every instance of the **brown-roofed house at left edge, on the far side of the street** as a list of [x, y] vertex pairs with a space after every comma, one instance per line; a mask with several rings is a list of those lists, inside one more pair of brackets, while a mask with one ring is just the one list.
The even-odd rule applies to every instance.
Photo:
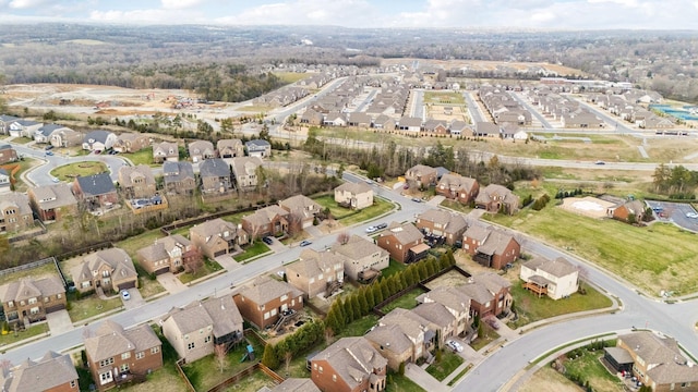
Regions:
[[65, 287], [58, 277], [21, 279], [0, 286], [4, 321], [28, 327], [65, 308]]

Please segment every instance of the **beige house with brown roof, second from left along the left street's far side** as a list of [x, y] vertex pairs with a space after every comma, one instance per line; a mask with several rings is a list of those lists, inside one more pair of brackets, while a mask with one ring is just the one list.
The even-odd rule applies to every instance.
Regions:
[[139, 274], [125, 250], [108, 248], [92, 253], [71, 270], [75, 289], [86, 293], [101, 289], [118, 293], [139, 286]]

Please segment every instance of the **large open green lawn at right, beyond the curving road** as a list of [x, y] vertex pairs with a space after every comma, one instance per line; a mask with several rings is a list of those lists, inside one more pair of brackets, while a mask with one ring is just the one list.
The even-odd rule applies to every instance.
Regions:
[[651, 294], [685, 295], [698, 291], [698, 241], [672, 224], [637, 228], [615, 220], [581, 217], [551, 206], [514, 217], [485, 219], [531, 234], [575, 253]]

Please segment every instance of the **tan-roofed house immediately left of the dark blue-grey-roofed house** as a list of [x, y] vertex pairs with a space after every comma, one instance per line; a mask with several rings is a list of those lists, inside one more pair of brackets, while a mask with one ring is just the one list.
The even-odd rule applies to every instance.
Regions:
[[27, 191], [32, 209], [41, 222], [60, 221], [77, 215], [77, 199], [70, 184], [51, 184]]

